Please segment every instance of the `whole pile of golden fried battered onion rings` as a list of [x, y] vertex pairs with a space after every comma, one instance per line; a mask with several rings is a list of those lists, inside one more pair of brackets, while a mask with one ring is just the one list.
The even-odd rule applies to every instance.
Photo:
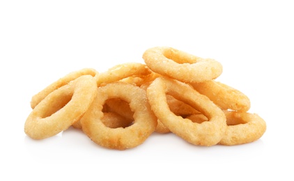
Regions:
[[172, 47], [146, 49], [145, 63], [66, 74], [31, 98], [24, 132], [46, 139], [72, 126], [98, 145], [135, 148], [157, 132], [192, 145], [240, 145], [263, 136], [241, 91], [217, 81], [222, 64]]

